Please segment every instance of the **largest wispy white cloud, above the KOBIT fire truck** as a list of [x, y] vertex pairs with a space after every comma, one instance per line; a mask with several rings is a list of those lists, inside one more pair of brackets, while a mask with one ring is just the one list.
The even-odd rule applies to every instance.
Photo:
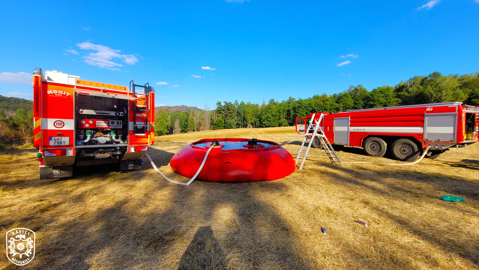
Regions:
[[96, 53], [89, 53], [86, 56], [82, 56], [85, 60], [83, 62], [102, 68], [108, 68], [111, 70], [121, 70], [118, 67], [123, 67], [122, 64], [112, 61], [114, 58], [119, 58], [125, 61], [128, 65], [134, 65], [138, 62], [138, 58], [134, 55], [122, 55], [119, 54], [120, 50], [115, 50], [104, 45], [96, 45], [90, 42], [78, 43], [77, 47], [82, 50], [97, 51]]

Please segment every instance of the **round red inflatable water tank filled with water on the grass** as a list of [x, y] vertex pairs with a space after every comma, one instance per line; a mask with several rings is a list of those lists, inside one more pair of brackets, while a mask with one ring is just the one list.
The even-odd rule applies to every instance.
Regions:
[[[270, 181], [286, 177], [296, 169], [293, 156], [277, 143], [258, 140], [261, 148], [247, 148], [249, 139], [217, 139], [223, 146], [210, 151], [197, 179], [208, 182], [238, 183]], [[184, 146], [170, 162], [171, 169], [192, 178], [213, 139], [202, 139]]]

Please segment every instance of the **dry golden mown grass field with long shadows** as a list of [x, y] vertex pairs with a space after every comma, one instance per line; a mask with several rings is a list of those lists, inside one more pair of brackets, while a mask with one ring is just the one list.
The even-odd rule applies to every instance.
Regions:
[[[149, 154], [168, 177], [186, 181], [168, 163], [190, 142], [296, 135], [292, 127], [167, 135]], [[285, 149], [296, 156], [298, 144]], [[0, 269], [479, 269], [479, 144], [413, 166], [382, 165], [394, 161], [358, 148], [338, 155], [377, 164], [335, 166], [312, 149], [284, 179], [184, 187], [146, 158], [137, 171], [81, 168], [39, 180], [34, 150], [3, 153], [1, 229], [34, 230], [36, 254], [15, 266], [2, 236]], [[448, 194], [466, 200], [439, 200]]]

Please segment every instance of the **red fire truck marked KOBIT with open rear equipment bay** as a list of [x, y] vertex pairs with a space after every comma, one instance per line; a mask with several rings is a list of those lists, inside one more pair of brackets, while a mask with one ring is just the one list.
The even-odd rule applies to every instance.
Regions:
[[40, 179], [68, 177], [73, 166], [118, 163], [138, 169], [154, 143], [155, 92], [35, 68], [34, 147]]

